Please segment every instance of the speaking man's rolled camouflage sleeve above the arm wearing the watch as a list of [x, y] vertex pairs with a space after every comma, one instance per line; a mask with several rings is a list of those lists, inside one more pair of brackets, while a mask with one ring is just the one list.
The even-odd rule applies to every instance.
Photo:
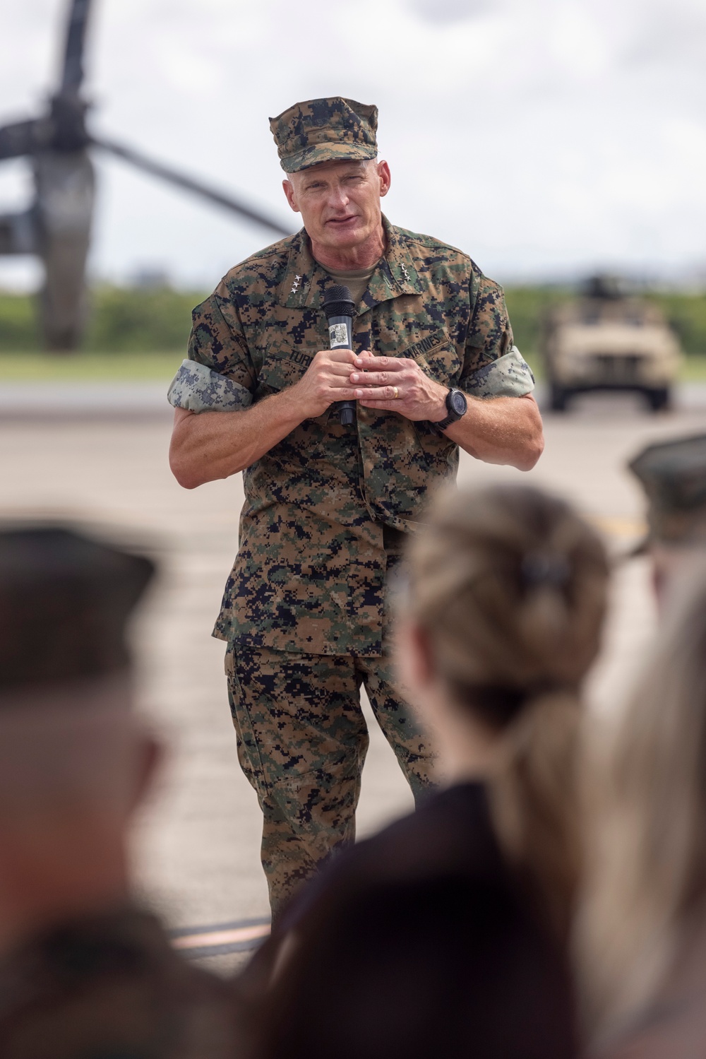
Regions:
[[535, 378], [514, 345], [503, 288], [474, 271], [471, 301], [459, 389], [472, 397], [523, 397], [531, 393]]

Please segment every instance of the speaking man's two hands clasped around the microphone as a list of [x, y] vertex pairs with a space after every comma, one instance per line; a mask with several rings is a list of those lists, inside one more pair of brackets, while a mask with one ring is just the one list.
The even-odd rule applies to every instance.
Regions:
[[447, 414], [448, 389], [424, 375], [415, 360], [374, 357], [367, 351], [321, 349], [292, 390], [306, 418], [323, 415], [337, 400], [356, 400], [414, 420], [438, 423]]

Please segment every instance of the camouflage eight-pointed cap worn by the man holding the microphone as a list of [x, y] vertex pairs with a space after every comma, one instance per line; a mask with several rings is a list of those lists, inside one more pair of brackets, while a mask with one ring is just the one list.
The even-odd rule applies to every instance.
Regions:
[[378, 108], [344, 100], [307, 100], [270, 119], [285, 173], [319, 162], [367, 161], [378, 154]]

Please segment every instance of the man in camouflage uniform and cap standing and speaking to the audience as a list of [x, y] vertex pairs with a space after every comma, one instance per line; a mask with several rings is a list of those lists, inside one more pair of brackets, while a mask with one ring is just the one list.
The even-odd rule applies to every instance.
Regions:
[[[377, 124], [377, 107], [339, 96], [271, 119], [304, 227], [197, 306], [169, 390], [181, 485], [243, 471], [214, 635], [228, 642], [274, 915], [355, 839], [362, 684], [415, 798], [432, 783], [433, 748], [395, 686], [386, 602], [428, 490], [455, 479], [459, 448], [527, 470], [543, 447], [502, 288], [460, 250], [383, 216]], [[323, 298], [334, 285], [357, 306], [354, 349], [329, 348]]]

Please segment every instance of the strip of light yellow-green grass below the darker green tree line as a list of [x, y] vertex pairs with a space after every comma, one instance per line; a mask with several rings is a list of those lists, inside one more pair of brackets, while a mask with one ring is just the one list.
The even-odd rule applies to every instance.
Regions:
[[[174, 353], [0, 353], [2, 382], [168, 382], [184, 358]], [[542, 378], [537, 356], [527, 356], [535, 377]], [[706, 382], [706, 356], [685, 357], [682, 382]]]

